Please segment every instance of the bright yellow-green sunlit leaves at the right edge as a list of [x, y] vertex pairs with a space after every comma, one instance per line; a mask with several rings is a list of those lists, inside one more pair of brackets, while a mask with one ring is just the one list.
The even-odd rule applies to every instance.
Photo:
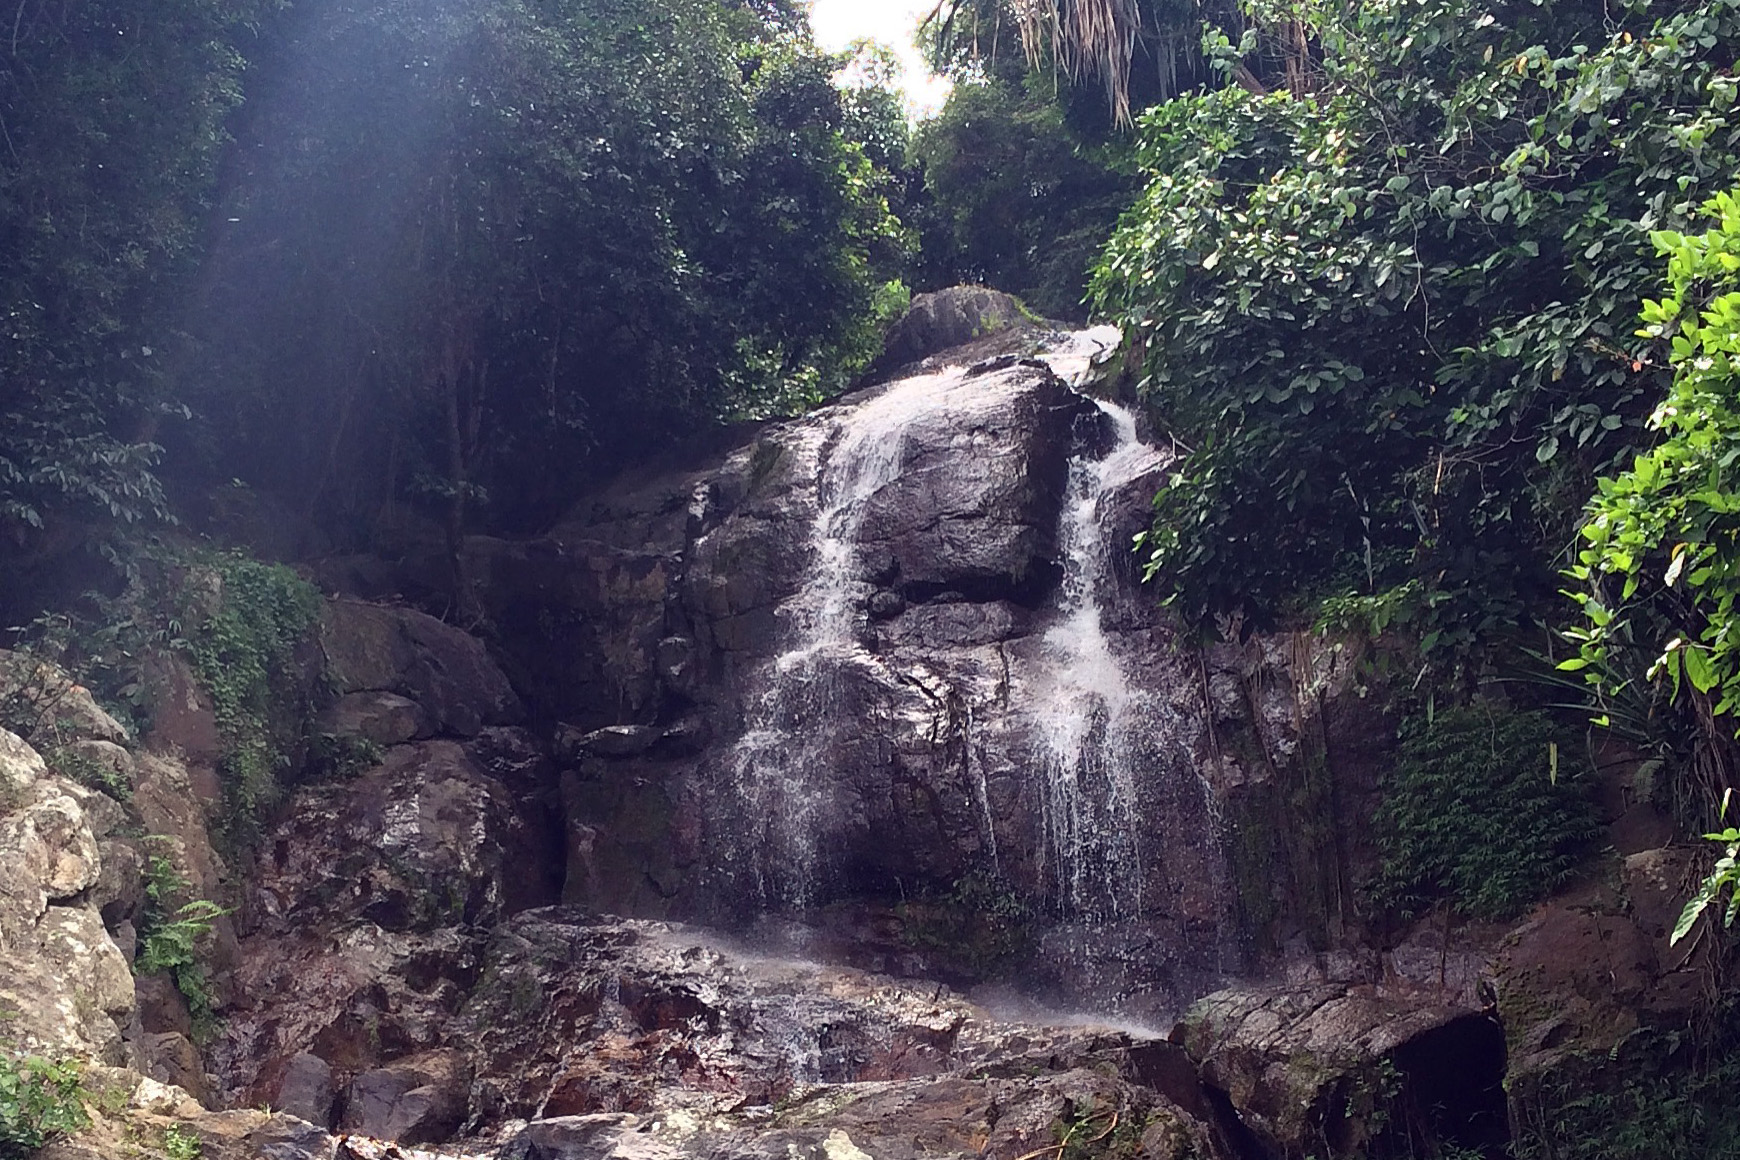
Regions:
[[1643, 637], [1660, 652], [1641, 677], [1672, 697], [1690, 683], [1721, 717], [1740, 706], [1740, 197], [1719, 193], [1705, 212], [1716, 226], [1702, 235], [1651, 233], [1669, 290], [1644, 301], [1639, 334], [1667, 348], [1674, 381], [1650, 416], [1656, 445], [1599, 480], [1589, 504], [1566, 572], [1585, 624], [1559, 668], [1620, 687], [1639, 673], [1616, 645]]

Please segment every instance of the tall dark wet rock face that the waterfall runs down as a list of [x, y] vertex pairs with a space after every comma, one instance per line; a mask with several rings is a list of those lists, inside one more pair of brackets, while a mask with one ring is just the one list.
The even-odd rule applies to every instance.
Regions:
[[[567, 722], [564, 899], [741, 923], [938, 897], [966, 917], [997, 894], [1035, 932], [1117, 920], [1094, 962], [1035, 958], [1041, 984], [1093, 974], [1145, 1007], [1199, 993], [1228, 911], [1178, 711], [1148, 697], [1096, 723], [1054, 704], [1079, 692], [1060, 689], [1063, 602], [1091, 586], [1070, 579], [1088, 548], [1067, 522], [1089, 483], [1093, 518], [1115, 527], [1152, 492], [1148, 468], [1081, 475], [1114, 443], [1094, 403], [1006, 357], [872, 388], [691, 473], [625, 480], [541, 541], [475, 541], [522, 685]], [[1122, 666], [1190, 687], [1128, 569], [1100, 598], [1101, 683]], [[1053, 737], [1070, 713], [1081, 737]], [[1044, 767], [1070, 744], [1072, 762], [1131, 753], [1065, 777], [1081, 791], [1063, 800]], [[1098, 837], [1114, 831], [1171, 837]], [[969, 958], [980, 970], [992, 955]], [[891, 962], [858, 958], [872, 960]]]

